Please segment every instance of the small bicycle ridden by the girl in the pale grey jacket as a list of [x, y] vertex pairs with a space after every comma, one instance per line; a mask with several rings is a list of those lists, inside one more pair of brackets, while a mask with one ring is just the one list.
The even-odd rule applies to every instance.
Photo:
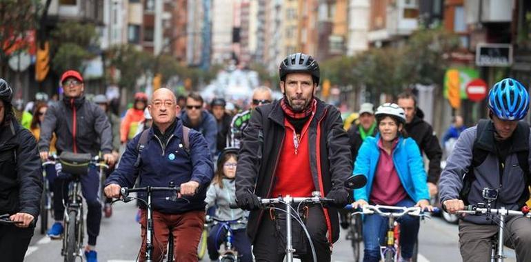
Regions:
[[233, 239], [232, 239], [232, 228], [231, 225], [246, 225], [247, 220], [242, 219], [241, 217], [239, 219], [230, 220], [230, 221], [224, 221], [221, 219], [217, 219], [214, 216], [208, 216], [206, 219], [207, 223], [209, 223], [212, 227], [214, 225], [221, 225], [217, 235], [215, 243], [218, 243], [217, 236], [220, 234], [222, 230], [226, 230], [227, 234], [225, 236], [225, 240], [223, 241], [223, 250], [221, 250], [221, 245], [217, 245], [216, 249], [221, 250], [219, 252], [219, 261], [220, 262], [237, 262], [239, 261], [238, 251], [234, 249], [234, 246], [232, 245]]

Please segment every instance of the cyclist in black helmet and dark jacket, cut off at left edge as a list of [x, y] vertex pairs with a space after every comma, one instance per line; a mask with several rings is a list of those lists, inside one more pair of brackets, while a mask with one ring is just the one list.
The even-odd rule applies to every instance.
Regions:
[[37, 141], [14, 118], [13, 90], [0, 79], [0, 215], [17, 221], [0, 225], [2, 261], [23, 261], [39, 216], [43, 188]]

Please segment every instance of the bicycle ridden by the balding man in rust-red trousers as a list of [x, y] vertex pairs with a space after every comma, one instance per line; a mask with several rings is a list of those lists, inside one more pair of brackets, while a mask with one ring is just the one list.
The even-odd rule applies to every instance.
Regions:
[[[176, 187], [173, 182], [170, 182], [170, 185], [168, 188], [160, 188], [160, 187], [152, 187], [147, 186], [145, 188], [121, 188], [120, 193], [122, 198], [114, 200], [116, 201], [122, 201], [123, 203], [128, 203], [132, 201], [133, 199], [138, 199], [136, 197], [129, 196], [129, 193], [131, 192], [146, 192], [147, 194], [147, 201], [141, 200], [143, 203], [146, 204], [146, 210], [147, 210], [147, 223], [146, 223], [146, 255], [145, 259], [146, 262], [153, 262], [153, 239], [154, 239], [154, 232], [153, 232], [153, 212], [151, 210], [151, 199], [152, 199], [152, 192], [161, 192], [161, 191], [170, 191], [174, 192], [174, 196], [172, 197], [166, 197], [166, 200], [175, 201], [177, 199], [177, 194], [181, 191], [180, 187]], [[166, 257], [168, 258], [168, 262], [174, 261], [174, 254], [173, 254], [173, 234], [170, 232], [168, 236], [168, 253], [166, 254]], [[162, 261], [163, 259], [161, 259]]]

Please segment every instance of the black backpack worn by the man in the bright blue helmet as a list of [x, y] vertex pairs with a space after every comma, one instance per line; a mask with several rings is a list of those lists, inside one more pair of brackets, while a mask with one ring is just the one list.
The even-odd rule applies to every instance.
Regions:
[[[490, 128], [490, 120], [489, 119], [481, 119], [479, 120], [477, 124], [477, 130], [476, 130], [476, 139], [474, 139], [474, 145], [472, 146], [472, 163], [470, 166], [468, 166], [467, 170], [468, 172], [463, 175], [463, 188], [461, 188], [461, 192], [459, 192], [459, 199], [463, 200], [463, 203], [465, 205], [469, 205], [468, 203], [468, 194], [470, 194], [470, 189], [472, 188], [472, 183], [476, 180], [476, 176], [474, 174], [474, 168], [477, 168], [485, 159], [487, 158], [489, 152], [487, 150], [481, 149], [479, 147], [479, 138], [481, 137], [481, 134], [488, 128]], [[519, 121], [517, 130], [521, 130], [523, 132], [523, 136], [525, 137], [525, 141], [521, 141], [522, 143], [525, 142], [525, 145], [529, 144], [529, 134], [530, 134], [530, 126], [525, 121]], [[515, 131], [516, 132], [516, 131]], [[524, 179], [525, 179], [525, 185], [528, 185], [531, 181], [529, 179], [530, 172], [529, 172], [529, 148], [528, 150], [521, 150], [517, 152], [517, 159], [518, 164], [520, 165], [521, 169], [524, 173]], [[523, 195], [518, 201], [519, 206], [523, 206], [525, 204], [525, 201], [528, 201], [529, 199], [529, 188], [526, 187]]]

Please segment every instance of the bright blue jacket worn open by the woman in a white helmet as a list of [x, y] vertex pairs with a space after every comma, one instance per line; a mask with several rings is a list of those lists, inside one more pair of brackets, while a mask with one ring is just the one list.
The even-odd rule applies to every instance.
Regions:
[[[380, 134], [377, 134], [376, 137], [367, 137], [361, 144], [361, 148], [359, 148], [352, 174], [365, 175], [367, 184], [363, 188], [354, 190], [354, 199], [356, 200], [369, 201], [374, 172], [376, 172], [380, 158], [379, 139]], [[392, 159], [394, 168], [397, 170], [402, 186], [408, 196], [415, 202], [421, 199], [429, 200], [430, 193], [426, 184], [426, 172], [417, 143], [411, 138], [403, 139], [403, 137], [400, 137], [397, 148], [394, 148], [392, 152]]]

